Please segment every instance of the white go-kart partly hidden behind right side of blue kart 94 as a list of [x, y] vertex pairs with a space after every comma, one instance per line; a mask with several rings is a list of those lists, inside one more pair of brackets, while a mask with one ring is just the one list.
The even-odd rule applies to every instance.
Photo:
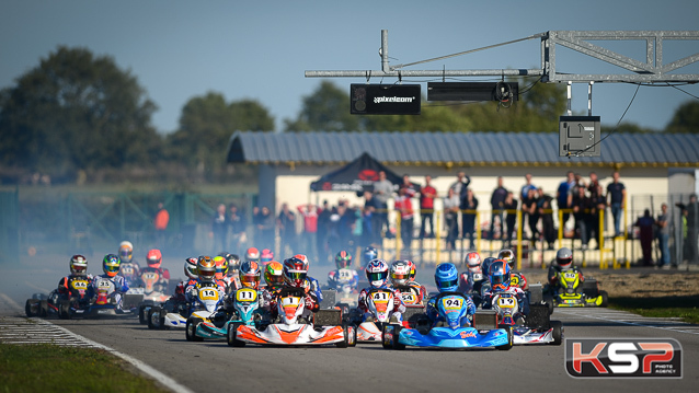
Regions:
[[551, 321], [547, 304], [529, 304], [529, 313], [522, 314], [519, 301], [513, 293], [497, 293], [492, 299], [492, 309], [497, 313], [499, 327], [514, 335], [514, 345], [553, 344], [561, 345], [563, 324]]

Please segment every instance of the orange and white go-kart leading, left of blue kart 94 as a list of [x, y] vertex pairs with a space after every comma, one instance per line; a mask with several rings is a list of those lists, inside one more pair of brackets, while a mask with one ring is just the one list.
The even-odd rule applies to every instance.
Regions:
[[242, 321], [228, 324], [229, 346], [241, 347], [247, 343], [261, 345], [324, 345], [335, 344], [346, 348], [356, 344], [356, 331], [342, 324], [342, 311], [321, 309], [312, 321], [303, 316], [306, 293], [302, 288], [284, 288], [277, 297], [277, 320], [263, 327]]

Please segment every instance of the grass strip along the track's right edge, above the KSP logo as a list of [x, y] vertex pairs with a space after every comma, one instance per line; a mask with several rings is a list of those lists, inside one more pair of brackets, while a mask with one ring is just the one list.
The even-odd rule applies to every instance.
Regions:
[[609, 307], [627, 310], [643, 316], [681, 317], [688, 323], [699, 324], [699, 296], [661, 298], [609, 298]]

